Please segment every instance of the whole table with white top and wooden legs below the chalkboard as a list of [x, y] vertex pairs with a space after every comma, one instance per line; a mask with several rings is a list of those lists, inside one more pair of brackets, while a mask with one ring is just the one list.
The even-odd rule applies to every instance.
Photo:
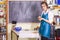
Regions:
[[15, 31], [15, 30], [12, 30], [11, 31], [11, 40], [13, 39], [13, 33], [16, 35], [17, 39], [18, 38], [40, 38], [39, 36], [39, 33], [37, 31]]

